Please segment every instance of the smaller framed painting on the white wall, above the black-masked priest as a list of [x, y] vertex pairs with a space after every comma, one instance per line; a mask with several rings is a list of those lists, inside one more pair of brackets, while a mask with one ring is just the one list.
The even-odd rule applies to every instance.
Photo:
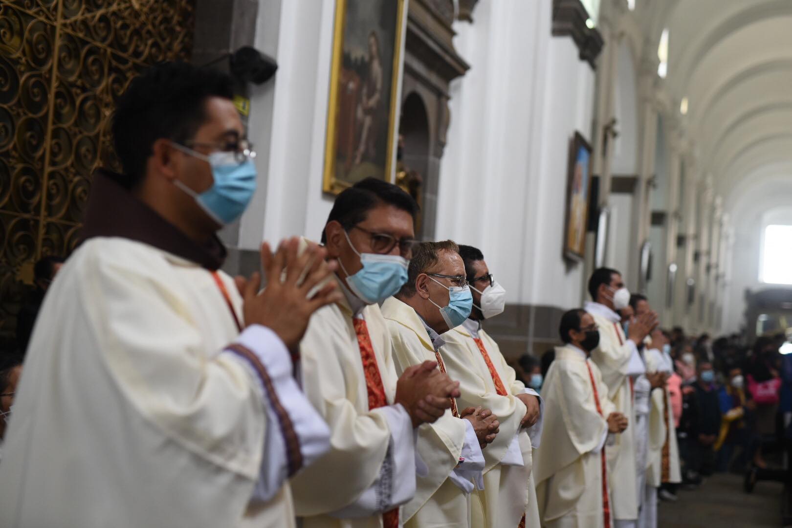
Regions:
[[564, 256], [570, 260], [582, 260], [585, 256], [591, 158], [592, 147], [580, 132], [575, 132], [569, 146], [564, 230]]

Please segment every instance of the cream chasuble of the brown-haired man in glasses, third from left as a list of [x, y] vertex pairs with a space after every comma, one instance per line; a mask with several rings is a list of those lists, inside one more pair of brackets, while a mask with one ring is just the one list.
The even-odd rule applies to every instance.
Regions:
[[[393, 340], [394, 359], [399, 372], [425, 361], [437, 360], [421, 317], [412, 306], [397, 298], [388, 298], [383, 303], [383, 316]], [[440, 355], [444, 360], [446, 356], [442, 349]], [[462, 410], [464, 407], [457, 408]], [[467, 420], [456, 418], [448, 409], [435, 423], [419, 427], [417, 453], [425, 462], [428, 475], [418, 477], [415, 497], [403, 508], [406, 526], [470, 526], [470, 495], [451, 476], [466, 445], [466, 424]], [[478, 441], [475, 447], [478, 449]], [[481, 450], [478, 452], [480, 454]], [[468, 484], [472, 491], [473, 484]]]

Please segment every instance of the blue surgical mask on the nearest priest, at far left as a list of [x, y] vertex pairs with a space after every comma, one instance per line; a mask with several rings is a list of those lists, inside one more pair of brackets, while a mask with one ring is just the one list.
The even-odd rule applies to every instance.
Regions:
[[245, 161], [240, 163], [236, 152], [212, 152], [207, 156], [178, 143], [173, 143], [173, 146], [211, 165], [211, 177], [215, 180], [210, 188], [200, 193], [179, 180], [174, 180], [173, 184], [192, 196], [199, 207], [221, 226], [227, 226], [242, 216], [256, 192], [256, 165], [253, 164], [256, 154], [248, 153]]

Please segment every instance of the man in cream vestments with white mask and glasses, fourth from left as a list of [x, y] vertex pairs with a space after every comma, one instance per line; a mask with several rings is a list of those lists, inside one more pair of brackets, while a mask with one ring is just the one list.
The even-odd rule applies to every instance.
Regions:
[[542, 435], [542, 403], [534, 389], [517, 381], [482, 322], [503, 312], [505, 290], [494, 281], [481, 251], [459, 246], [473, 295], [473, 309], [462, 325], [443, 335], [443, 357], [459, 381], [461, 407], [489, 408], [500, 432], [484, 450], [484, 489], [472, 501], [473, 526], [539, 526], [531, 474], [533, 450]]

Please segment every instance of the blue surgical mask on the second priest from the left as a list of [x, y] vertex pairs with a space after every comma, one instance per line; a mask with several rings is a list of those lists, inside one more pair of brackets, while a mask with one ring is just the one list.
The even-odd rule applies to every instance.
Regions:
[[407, 268], [409, 260], [398, 255], [378, 255], [376, 253], [358, 253], [349, 235], [344, 232], [349, 247], [360, 256], [363, 268], [355, 275], [349, 275], [338, 259], [341, 271], [347, 279], [347, 286], [361, 301], [369, 304], [383, 302], [391, 295], [395, 295], [407, 282]]

